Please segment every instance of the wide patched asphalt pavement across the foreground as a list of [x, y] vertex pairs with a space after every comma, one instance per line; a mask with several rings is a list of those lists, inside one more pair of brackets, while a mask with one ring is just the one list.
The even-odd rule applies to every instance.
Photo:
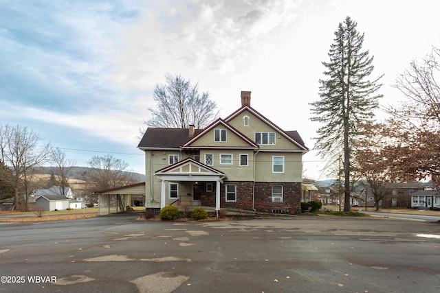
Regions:
[[440, 291], [435, 222], [135, 217], [0, 222], [0, 292]]

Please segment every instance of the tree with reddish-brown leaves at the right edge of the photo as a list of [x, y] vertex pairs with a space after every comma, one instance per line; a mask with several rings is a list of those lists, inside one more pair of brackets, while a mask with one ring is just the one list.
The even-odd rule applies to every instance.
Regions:
[[422, 179], [440, 174], [440, 49], [432, 48], [426, 58], [413, 60], [395, 87], [406, 100], [386, 108], [393, 126], [397, 170], [402, 178]]

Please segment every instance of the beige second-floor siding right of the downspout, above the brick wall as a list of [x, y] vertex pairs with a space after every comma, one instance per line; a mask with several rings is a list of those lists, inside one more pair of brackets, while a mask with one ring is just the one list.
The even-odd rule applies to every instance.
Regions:
[[[272, 157], [284, 156], [284, 172], [272, 172]], [[259, 152], [256, 155], [255, 180], [258, 182], [302, 182], [302, 154]]]

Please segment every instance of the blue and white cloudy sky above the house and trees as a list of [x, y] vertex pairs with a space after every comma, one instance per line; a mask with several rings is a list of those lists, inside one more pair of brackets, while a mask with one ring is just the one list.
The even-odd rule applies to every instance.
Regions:
[[324, 165], [313, 150], [309, 102], [338, 23], [365, 33], [382, 104], [414, 58], [440, 43], [435, 0], [0, 1], [0, 122], [20, 124], [62, 148], [76, 165], [113, 154], [144, 172], [139, 128], [164, 75], [182, 75], [217, 102], [221, 117], [252, 107], [311, 151], [305, 176]]

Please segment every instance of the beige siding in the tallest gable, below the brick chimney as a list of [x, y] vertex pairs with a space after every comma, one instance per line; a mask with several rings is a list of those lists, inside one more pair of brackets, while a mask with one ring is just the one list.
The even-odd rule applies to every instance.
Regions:
[[[244, 126], [243, 117], [249, 117], [249, 126]], [[275, 144], [274, 145], [260, 145], [262, 150], [300, 150], [297, 145], [286, 139], [283, 134], [276, 132], [273, 128], [265, 124], [256, 116], [252, 115], [249, 111], [245, 110], [243, 113], [234, 117], [229, 122], [230, 125], [234, 126], [241, 133], [245, 134], [245, 136], [249, 137], [254, 141], [255, 132], [275, 132]]]

